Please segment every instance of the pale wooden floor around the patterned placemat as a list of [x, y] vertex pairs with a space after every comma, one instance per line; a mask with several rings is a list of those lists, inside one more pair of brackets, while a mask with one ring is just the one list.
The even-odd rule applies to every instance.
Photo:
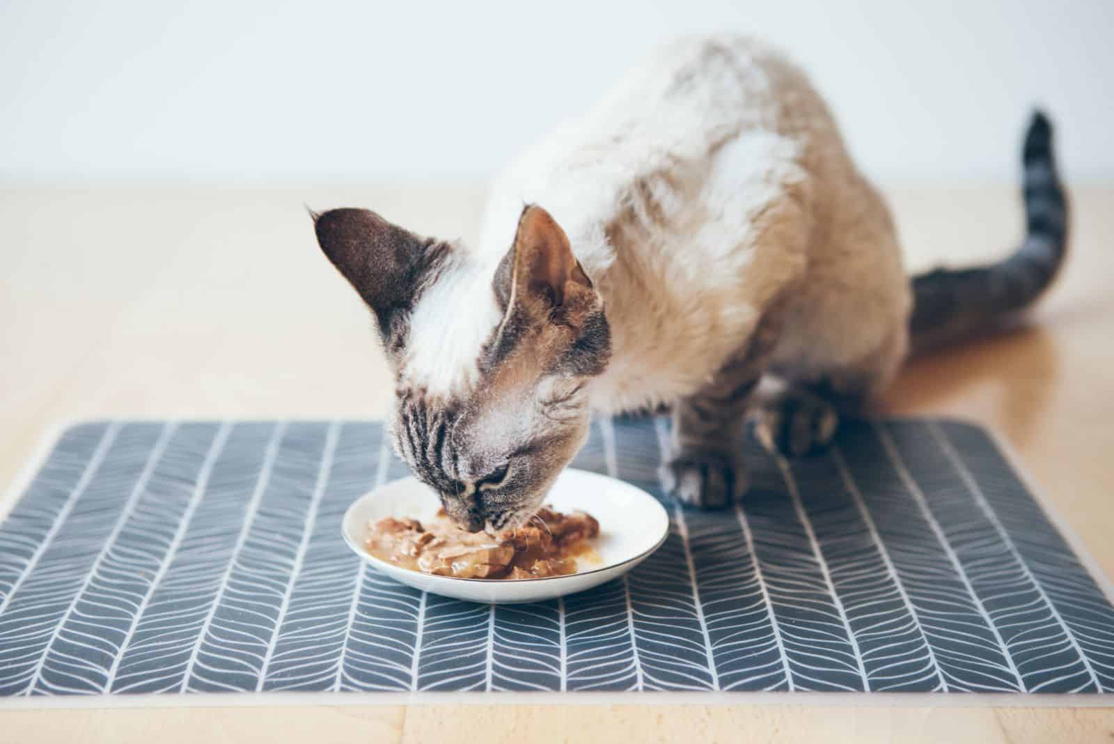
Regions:
[[[1009, 187], [889, 193], [912, 267], [995, 257], [1020, 234]], [[911, 363], [881, 404], [997, 429], [1114, 575], [1114, 186], [1079, 186], [1074, 196], [1069, 265], [1032, 322]], [[0, 483], [14, 479], [48, 430], [78, 418], [380, 415], [390, 388], [371, 321], [320, 256], [303, 205], [370, 206], [419, 232], [468, 239], [481, 203], [472, 184], [0, 185]], [[1114, 738], [1110, 708], [737, 701], [0, 709], [0, 741]]]

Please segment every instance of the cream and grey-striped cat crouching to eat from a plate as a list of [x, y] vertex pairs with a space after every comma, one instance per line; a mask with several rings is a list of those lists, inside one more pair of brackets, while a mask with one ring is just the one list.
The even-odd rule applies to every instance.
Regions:
[[[1052, 128], [1024, 147], [1008, 260], [907, 276], [892, 219], [803, 72], [735, 36], [677, 40], [495, 183], [475, 248], [367, 209], [313, 214], [377, 319], [392, 439], [460, 527], [532, 515], [593, 412], [666, 407], [666, 489], [746, 489], [744, 418], [823, 447], [911, 351], [991, 325], [1052, 283], [1067, 203]], [[780, 390], [759, 402], [763, 379]], [[766, 385], [763, 385], [763, 390]]]

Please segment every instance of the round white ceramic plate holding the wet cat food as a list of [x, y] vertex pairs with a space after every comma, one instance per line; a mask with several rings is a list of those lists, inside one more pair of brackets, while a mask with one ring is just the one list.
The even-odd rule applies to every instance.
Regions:
[[566, 470], [557, 479], [546, 503], [558, 511], [580, 509], [599, 520], [599, 536], [592, 547], [598, 562], [580, 559], [577, 572], [539, 579], [458, 579], [430, 576], [400, 568], [368, 554], [363, 541], [369, 522], [383, 517], [411, 517], [419, 521], [437, 513], [437, 495], [413, 478], [377, 488], [356, 500], [344, 513], [344, 540], [377, 570], [417, 589], [483, 603], [541, 601], [584, 591], [622, 576], [654, 552], [670, 531], [670, 517], [657, 499], [641, 488], [615, 478], [584, 470]]

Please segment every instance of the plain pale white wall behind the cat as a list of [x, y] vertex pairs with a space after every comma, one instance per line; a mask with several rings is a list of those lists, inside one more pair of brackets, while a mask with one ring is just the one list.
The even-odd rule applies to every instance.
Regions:
[[880, 177], [1114, 177], [1111, 0], [0, 0], [0, 176], [486, 176], [682, 31], [764, 35]]

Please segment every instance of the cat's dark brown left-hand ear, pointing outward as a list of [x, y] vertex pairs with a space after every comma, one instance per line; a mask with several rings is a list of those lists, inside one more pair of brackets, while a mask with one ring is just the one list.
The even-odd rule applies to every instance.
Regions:
[[409, 315], [422, 276], [443, 258], [448, 246], [368, 209], [330, 209], [310, 216], [321, 249], [374, 311], [384, 342], [400, 343], [404, 333], [399, 321]]

